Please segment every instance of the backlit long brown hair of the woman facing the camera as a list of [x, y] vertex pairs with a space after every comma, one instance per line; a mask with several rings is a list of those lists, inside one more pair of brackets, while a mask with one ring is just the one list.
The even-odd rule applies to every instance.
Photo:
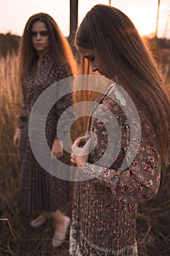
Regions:
[[47, 13], [37, 13], [32, 15], [25, 26], [23, 36], [20, 40], [19, 47], [19, 79], [28, 72], [31, 61], [36, 56], [36, 50], [31, 42], [31, 28], [36, 21], [42, 21], [46, 24], [50, 37], [50, 50], [55, 61], [67, 62], [72, 70], [73, 75], [77, 73], [77, 64], [74, 60], [72, 49], [66, 37], [61, 33], [58, 24]]

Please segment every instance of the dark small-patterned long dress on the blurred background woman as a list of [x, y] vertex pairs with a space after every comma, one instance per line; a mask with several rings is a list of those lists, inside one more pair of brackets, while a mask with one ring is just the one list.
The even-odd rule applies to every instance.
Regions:
[[[72, 72], [69, 64], [53, 61], [51, 53], [45, 55], [36, 74], [35, 69], [36, 59], [34, 59], [28, 74], [22, 80], [23, 109], [18, 122], [18, 127], [22, 129], [22, 132], [17, 204], [28, 212], [51, 212], [58, 210], [68, 202], [68, 181], [50, 175], [36, 161], [28, 139], [28, 121], [31, 109], [39, 95], [56, 81], [72, 76]], [[50, 148], [52, 148], [53, 141], [57, 138], [58, 118], [70, 105], [72, 105], [72, 95], [68, 94], [62, 101], [55, 103], [47, 116], [45, 135]], [[63, 124], [63, 135], [66, 132], [66, 125], [67, 120]]]

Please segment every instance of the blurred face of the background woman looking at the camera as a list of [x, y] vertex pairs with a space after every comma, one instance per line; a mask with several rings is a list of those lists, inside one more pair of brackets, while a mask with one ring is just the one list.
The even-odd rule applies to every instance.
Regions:
[[37, 53], [47, 53], [50, 48], [50, 39], [47, 25], [42, 21], [35, 21], [31, 29], [31, 40]]

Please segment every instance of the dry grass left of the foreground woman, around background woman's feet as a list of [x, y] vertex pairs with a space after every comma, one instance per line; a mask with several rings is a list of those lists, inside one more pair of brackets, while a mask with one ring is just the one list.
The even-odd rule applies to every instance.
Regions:
[[[34, 230], [30, 215], [15, 205], [18, 181], [18, 151], [13, 136], [22, 105], [18, 84], [18, 57], [15, 53], [0, 59], [0, 256], [68, 255], [69, 239], [60, 249], [53, 249], [53, 223]], [[69, 204], [63, 211], [71, 215]], [[35, 213], [36, 214], [36, 213]]]

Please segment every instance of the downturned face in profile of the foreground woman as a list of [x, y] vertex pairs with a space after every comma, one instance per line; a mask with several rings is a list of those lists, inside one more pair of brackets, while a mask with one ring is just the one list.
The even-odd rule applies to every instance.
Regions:
[[90, 61], [90, 66], [93, 72], [98, 71], [101, 75], [105, 75], [105, 77], [112, 79], [113, 75], [109, 73], [106, 64], [98, 55], [95, 49], [86, 49], [79, 47], [80, 53], [83, 57]]

